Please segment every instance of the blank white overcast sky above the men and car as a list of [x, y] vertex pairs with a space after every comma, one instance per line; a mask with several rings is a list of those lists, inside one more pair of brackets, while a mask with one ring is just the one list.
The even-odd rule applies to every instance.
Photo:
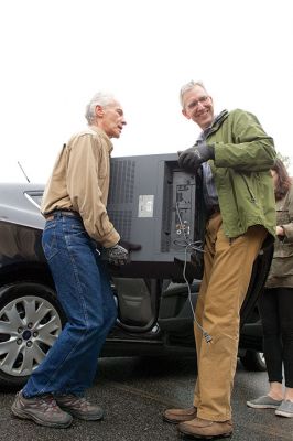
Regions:
[[85, 106], [113, 92], [128, 121], [115, 155], [191, 147], [180, 87], [202, 79], [216, 111], [254, 112], [291, 157], [291, 0], [1, 0], [0, 181], [46, 182]]

